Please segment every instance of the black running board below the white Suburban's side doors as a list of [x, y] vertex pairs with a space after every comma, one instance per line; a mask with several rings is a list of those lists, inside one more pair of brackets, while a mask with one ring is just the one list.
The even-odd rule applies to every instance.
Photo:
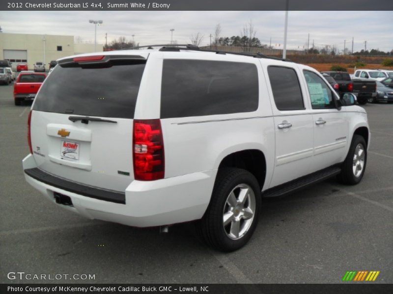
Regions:
[[309, 185], [326, 180], [341, 172], [339, 166], [331, 166], [318, 172], [313, 172], [300, 178], [294, 179], [290, 182], [281, 184], [279, 186], [270, 188], [262, 192], [263, 197], [284, 196], [289, 193], [301, 190]]

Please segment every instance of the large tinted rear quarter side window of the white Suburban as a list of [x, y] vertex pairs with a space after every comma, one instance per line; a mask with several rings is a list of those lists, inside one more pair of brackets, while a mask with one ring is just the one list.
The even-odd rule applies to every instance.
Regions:
[[258, 73], [251, 63], [164, 60], [161, 118], [252, 112]]

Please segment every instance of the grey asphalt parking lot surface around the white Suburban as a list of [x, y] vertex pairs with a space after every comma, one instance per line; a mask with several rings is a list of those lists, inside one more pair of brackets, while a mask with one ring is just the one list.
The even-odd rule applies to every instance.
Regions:
[[[199, 241], [192, 223], [138, 229], [91, 221], [25, 182], [29, 105], [0, 86], [0, 283], [339, 283], [347, 270], [379, 270], [393, 283], [393, 104], [367, 104], [371, 146], [363, 181], [330, 179], [264, 199], [258, 227], [229, 254]], [[14, 280], [8, 272], [94, 274], [94, 280]]]

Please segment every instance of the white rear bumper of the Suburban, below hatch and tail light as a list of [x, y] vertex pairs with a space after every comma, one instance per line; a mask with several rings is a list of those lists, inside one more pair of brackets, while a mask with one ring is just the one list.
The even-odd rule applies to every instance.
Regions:
[[[157, 181], [134, 180], [123, 194], [124, 203], [116, 203], [108, 199], [98, 199], [94, 194], [97, 192], [94, 189], [97, 188], [69, 181], [73, 186], [66, 186], [64, 182], [56, 184], [56, 180], [64, 181], [64, 179], [45, 172], [41, 174], [41, 178], [32, 174], [31, 171], [40, 174], [40, 170], [37, 169], [31, 154], [23, 159], [23, 168], [27, 182], [49, 200], [56, 203], [54, 197], [56, 192], [69, 196], [73, 203], [72, 206], [56, 205], [89, 219], [113, 221], [137, 227], [166, 225], [202, 218], [210, 201], [217, 172], [195, 172]], [[47, 174], [46, 179], [44, 179], [45, 174]], [[53, 178], [48, 178], [48, 175]], [[86, 191], [90, 191], [88, 193], [95, 197], [86, 196]]]

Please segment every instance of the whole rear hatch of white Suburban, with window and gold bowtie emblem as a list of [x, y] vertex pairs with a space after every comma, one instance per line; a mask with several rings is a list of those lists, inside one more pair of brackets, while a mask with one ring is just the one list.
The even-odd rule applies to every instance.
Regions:
[[124, 192], [134, 179], [132, 128], [145, 63], [141, 56], [122, 55], [59, 61], [32, 106], [38, 168]]

